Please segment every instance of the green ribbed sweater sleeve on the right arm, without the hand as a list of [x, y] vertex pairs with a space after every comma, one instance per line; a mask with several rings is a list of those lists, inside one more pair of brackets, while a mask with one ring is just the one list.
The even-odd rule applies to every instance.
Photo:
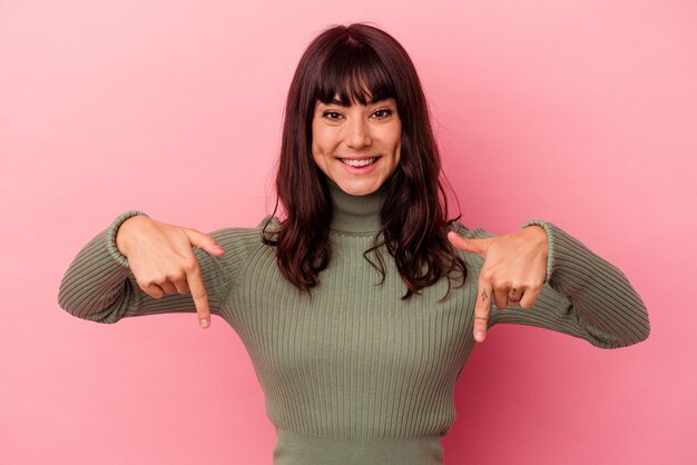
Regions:
[[[533, 220], [548, 236], [547, 279], [530, 309], [493, 306], [489, 326], [516, 323], [539, 326], [602, 348], [625, 347], [645, 340], [650, 332], [646, 306], [625, 275], [557, 226]], [[478, 228], [465, 237], [491, 235]], [[468, 254], [479, 275], [483, 258]]]

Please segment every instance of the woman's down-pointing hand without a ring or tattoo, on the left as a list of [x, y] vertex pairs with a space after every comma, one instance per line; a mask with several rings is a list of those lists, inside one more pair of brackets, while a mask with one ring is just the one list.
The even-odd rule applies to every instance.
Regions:
[[160, 298], [166, 294], [190, 291], [200, 327], [210, 326], [208, 294], [192, 247], [222, 256], [225, 250], [212, 236], [139, 215], [121, 224], [116, 247], [128, 258], [128, 266], [144, 293]]

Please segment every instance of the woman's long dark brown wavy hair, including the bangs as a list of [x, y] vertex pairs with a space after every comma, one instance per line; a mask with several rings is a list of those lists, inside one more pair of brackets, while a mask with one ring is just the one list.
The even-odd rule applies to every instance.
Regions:
[[380, 250], [386, 247], [406, 285], [403, 298], [443, 276], [449, 290], [452, 279], [464, 281], [464, 263], [446, 238], [457, 218], [445, 216], [440, 155], [414, 65], [394, 38], [361, 23], [322, 32], [305, 50], [291, 83], [274, 209], [275, 214], [281, 202], [285, 218], [273, 230], [271, 221], [264, 227], [264, 241], [276, 247], [283, 276], [310, 291], [332, 256], [332, 201], [311, 147], [316, 102], [328, 103], [336, 97], [345, 106], [393, 98], [402, 121], [401, 160], [385, 181], [381, 234], [364, 257], [384, 279]]

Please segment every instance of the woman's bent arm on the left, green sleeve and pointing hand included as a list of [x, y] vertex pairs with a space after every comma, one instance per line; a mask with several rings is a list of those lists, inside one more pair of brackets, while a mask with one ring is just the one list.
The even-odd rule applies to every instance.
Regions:
[[58, 303], [99, 323], [196, 311], [205, 328], [210, 313], [219, 315], [220, 299], [239, 268], [239, 231], [205, 235], [127, 211], [78, 253], [60, 284]]

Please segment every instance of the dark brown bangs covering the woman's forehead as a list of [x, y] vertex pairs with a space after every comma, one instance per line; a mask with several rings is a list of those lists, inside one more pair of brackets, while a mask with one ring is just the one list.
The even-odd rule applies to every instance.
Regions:
[[316, 100], [322, 103], [338, 100], [350, 107], [395, 97], [394, 83], [377, 53], [352, 41], [342, 43], [327, 57], [317, 79]]

